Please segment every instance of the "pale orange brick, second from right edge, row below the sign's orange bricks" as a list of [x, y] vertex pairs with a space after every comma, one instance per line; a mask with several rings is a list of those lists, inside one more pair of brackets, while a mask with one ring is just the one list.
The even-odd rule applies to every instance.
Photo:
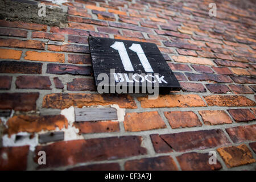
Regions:
[[232, 120], [229, 115], [223, 110], [200, 110], [201, 115], [205, 125], [220, 125], [220, 124], [230, 124]]

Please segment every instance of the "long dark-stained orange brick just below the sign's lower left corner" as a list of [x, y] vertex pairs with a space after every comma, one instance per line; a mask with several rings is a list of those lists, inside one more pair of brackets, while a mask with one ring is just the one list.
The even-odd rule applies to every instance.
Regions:
[[70, 106], [94, 106], [118, 104], [121, 108], [136, 109], [137, 105], [130, 95], [52, 93], [43, 98], [43, 107], [64, 109]]

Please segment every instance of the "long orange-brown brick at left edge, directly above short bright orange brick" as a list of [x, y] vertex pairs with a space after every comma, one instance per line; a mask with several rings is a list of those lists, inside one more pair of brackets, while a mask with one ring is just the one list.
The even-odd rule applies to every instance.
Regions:
[[1, 47], [44, 49], [45, 44], [38, 40], [0, 39], [0, 46]]

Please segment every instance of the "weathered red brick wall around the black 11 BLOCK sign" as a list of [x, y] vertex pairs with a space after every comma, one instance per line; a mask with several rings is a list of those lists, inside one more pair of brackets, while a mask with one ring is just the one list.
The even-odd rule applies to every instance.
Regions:
[[[255, 5], [216, 1], [210, 17], [210, 2], [68, 0], [65, 28], [0, 20], [0, 169], [255, 169]], [[157, 44], [182, 90], [98, 94], [90, 35]], [[98, 105], [124, 121], [72, 121]]]

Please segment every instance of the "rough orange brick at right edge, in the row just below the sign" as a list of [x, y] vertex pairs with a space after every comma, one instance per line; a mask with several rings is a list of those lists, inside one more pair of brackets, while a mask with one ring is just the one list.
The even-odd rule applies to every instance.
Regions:
[[255, 106], [255, 102], [245, 96], [204, 96], [205, 101], [209, 106]]

